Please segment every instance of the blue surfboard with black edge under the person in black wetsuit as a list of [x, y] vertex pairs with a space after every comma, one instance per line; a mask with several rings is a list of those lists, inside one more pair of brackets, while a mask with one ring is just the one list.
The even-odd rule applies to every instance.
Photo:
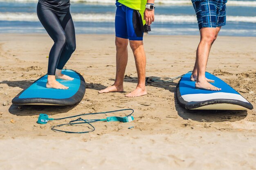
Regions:
[[63, 74], [74, 80], [57, 79], [67, 90], [46, 88], [47, 75], [36, 80], [13, 98], [13, 104], [28, 105], [74, 105], [83, 99], [85, 94], [85, 80], [83, 76], [73, 70], [63, 70]]

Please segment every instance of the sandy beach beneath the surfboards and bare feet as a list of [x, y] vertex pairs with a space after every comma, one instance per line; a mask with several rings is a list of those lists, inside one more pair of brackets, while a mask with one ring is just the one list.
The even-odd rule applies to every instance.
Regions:
[[[245, 111], [185, 110], [175, 98], [178, 80], [146, 84], [147, 95], [124, 97], [137, 85], [130, 49], [125, 92], [99, 94], [115, 80], [115, 36], [76, 39], [66, 66], [85, 78], [83, 100], [75, 106], [16, 106], [13, 97], [47, 73], [53, 42], [46, 34], [0, 34], [0, 170], [256, 170], [256, 37], [220, 36], [207, 66], [254, 105]], [[191, 71], [199, 40], [146, 35], [146, 76]], [[40, 113], [59, 118], [124, 108], [135, 110], [135, 121], [95, 123], [87, 134], [51, 130], [69, 120], [36, 123]]]

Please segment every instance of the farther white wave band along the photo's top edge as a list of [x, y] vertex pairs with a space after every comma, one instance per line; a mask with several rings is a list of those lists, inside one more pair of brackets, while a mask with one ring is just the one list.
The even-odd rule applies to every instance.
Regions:
[[[37, 2], [38, 0], [0, 0], [0, 2]], [[70, 0], [71, 2], [81, 3], [99, 3], [99, 4], [113, 4], [115, 0]], [[191, 4], [191, 0], [155, 0], [156, 4], [169, 4], [169, 5], [188, 5]], [[229, 6], [247, 6], [256, 7], [256, 1], [240, 1], [229, 0], [227, 2]]]

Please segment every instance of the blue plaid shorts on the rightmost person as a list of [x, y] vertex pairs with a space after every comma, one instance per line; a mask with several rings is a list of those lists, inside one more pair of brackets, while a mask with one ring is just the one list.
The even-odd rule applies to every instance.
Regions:
[[203, 27], [226, 25], [226, 4], [213, 0], [193, 2], [199, 30]]

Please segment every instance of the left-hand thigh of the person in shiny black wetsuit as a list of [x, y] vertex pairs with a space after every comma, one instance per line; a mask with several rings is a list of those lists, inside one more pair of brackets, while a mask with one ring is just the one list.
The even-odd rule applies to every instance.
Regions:
[[57, 15], [52, 10], [38, 3], [37, 15], [52, 40], [56, 41], [59, 37], [63, 37], [63, 35], [65, 35]]

